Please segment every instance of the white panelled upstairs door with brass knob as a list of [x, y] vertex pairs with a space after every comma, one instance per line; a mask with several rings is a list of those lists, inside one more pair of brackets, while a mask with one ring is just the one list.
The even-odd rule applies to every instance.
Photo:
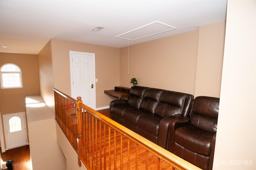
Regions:
[[70, 51], [71, 96], [95, 109], [95, 54]]

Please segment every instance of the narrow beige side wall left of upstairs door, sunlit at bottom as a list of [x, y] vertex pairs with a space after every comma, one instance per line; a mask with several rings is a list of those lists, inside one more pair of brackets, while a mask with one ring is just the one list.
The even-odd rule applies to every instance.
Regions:
[[53, 71], [52, 71], [52, 50], [51, 41], [38, 53], [38, 69], [40, 78], [40, 94], [44, 102], [55, 114], [54, 93], [53, 93]]

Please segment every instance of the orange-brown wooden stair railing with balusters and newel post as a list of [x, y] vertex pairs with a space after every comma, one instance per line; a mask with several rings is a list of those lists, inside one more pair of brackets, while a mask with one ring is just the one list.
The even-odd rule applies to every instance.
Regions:
[[79, 166], [82, 162], [88, 170], [200, 170], [84, 105], [80, 97], [74, 100], [53, 90], [56, 121], [76, 150]]

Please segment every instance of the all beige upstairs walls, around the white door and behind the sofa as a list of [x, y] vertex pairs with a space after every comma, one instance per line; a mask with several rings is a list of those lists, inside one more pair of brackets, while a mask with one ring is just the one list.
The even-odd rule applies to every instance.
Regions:
[[79, 51], [95, 53], [96, 108], [116, 99], [104, 90], [131, 87], [133, 77], [139, 86], [219, 97], [224, 30], [219, 22], [129, 48], [52, 39], [38, 54], [41, 95], [53, 113], [52, 87], [71, 96], [70, 51]]

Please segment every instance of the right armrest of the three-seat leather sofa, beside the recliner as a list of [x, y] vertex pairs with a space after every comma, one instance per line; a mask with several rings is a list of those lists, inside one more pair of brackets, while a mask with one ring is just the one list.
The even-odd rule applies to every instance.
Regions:
[[163, 118], [159, 124], [158, 145], [162, 148], [168, 149], [170, 124], [175, 124], [175, 122], [182, 122], [187, 120], [188, 118], [184, 118], [182, 116], [168, 116]]

